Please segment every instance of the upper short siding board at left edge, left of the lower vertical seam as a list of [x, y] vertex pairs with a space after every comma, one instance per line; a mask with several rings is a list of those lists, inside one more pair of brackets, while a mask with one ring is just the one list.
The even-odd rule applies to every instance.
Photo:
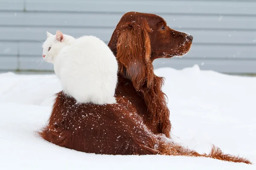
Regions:
[[0, 42], [0, 56], [17, 56], [18, 46], [18, 42]]

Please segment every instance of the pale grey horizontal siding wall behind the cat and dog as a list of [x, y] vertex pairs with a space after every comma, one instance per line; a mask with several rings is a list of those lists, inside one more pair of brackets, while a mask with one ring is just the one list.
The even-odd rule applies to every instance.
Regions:
[[46, 31], [106, 43], [125, 12], [154, 13], [194, 36], [183, 58], [154, 67], [256, 73], [256, 0], [0, 0], [0, 71], [52, 70], [41, 62]]

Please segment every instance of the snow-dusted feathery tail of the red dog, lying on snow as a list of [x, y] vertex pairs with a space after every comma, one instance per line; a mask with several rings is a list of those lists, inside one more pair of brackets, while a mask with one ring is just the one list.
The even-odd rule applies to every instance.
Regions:
[[189, 150], [186, 147], [180, 146], [174, 142], [170, 142], [165, 136], [157, 135], [158, 144], [156, 149], [161, 155], [174, 155], [174, 156], [202, 156], [212, 159], [219, 159], [222, 161], [231, 162], [243, 162], [246, 164], [252, 164], [248, 159], [239, 156], [233, 156], [230, 154], [223, 153], [220, 148], [212, 146], [212, 150], [209, 154], [199, 154], [194, 150]]

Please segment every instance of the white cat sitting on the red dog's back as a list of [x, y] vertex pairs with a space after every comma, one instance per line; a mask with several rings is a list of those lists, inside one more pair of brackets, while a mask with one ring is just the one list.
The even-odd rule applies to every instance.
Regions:
[[116, 103], [118, 64], [112, 51], [93, 36], [78, 39], [61, 31], [47, 32], [43, 57], [52, 62], [63, 91], [79, 103]]

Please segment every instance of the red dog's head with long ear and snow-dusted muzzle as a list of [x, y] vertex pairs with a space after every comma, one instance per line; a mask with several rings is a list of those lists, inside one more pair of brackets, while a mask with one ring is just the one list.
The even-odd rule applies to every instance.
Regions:
[[155, 14], [128, 12], [124, 14], [112, 34], [108, 46], [119, 61], [122, 76], [131, 79], [138, 90], [150, 88], [157, 58], [171, 58], [188, 53], [193, 37], [175, 31]]

